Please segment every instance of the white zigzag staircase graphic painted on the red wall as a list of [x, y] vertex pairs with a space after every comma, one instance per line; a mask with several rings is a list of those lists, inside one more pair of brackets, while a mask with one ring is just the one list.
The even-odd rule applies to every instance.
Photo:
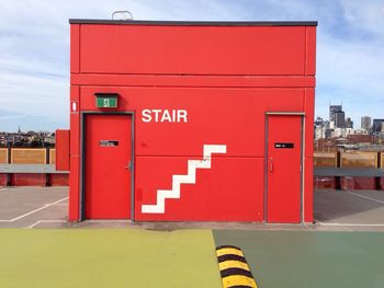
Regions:
[[187, 175], [172, 175], [172, 189], [157, 191], [157, 203], [155, 205], [142, 205], [143, 214], [165, 214], [166, 199], [180, 198], [181, 184], [196, 183], [196, 169], [211, 169], [211, 158], [213, 153], [226, 153], [226, 145], [204, 145], [203, 160], [188, 160]]

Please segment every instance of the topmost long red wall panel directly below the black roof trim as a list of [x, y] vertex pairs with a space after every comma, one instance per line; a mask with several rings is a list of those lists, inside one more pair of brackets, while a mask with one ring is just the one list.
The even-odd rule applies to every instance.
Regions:
[[304, 74], [305, 35], [304, 26], [81, 25], [80, 71]]

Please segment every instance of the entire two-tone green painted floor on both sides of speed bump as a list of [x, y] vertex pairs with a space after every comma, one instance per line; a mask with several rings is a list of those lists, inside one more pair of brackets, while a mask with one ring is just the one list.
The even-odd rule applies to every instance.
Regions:
[[0, 229], [0, 288], [218, 288], [223, 244], [259, 288], [384, 287], [384, 233], [127, 228]]

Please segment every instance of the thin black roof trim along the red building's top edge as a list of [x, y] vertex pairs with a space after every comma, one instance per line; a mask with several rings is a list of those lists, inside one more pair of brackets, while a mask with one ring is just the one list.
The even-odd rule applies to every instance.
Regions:
[[317, 21], [147, 21], [69, 19], [69, 23], [157, 26], [317, 26]]

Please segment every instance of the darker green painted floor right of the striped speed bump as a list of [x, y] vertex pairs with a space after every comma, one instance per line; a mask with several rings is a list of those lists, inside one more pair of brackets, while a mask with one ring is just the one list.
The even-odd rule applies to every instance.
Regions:
[[215, 230], [242, 249], [259, 288], [383, 288], [384, 233]]

